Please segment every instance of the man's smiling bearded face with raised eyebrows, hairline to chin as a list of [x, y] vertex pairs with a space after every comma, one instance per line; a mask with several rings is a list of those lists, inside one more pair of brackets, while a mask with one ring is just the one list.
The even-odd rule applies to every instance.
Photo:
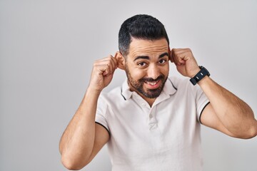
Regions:
[[168, 78], [168, 43], [165, 38], [132, 38], [125, 71], [129, 87], [145, 98], [157, 98]]

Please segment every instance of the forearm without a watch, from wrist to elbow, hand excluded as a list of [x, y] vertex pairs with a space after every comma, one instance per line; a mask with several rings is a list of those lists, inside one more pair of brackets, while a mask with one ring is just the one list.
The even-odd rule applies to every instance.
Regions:
[[[87, 90], [74, 118], [64, 131], [60, 141], [63, 162], [81, 165], [90, 157], [94, 147], [96, 104], [98, 92]], [[71, 165], [71, 164], [66, 164]]]

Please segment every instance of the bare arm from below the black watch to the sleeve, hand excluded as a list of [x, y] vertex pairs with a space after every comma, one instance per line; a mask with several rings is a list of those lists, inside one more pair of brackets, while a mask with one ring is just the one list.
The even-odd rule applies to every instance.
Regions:
[[203, 125], [236, 138], [253, 138], [257, 135], [253, 110], [243, 100], [211, 78], [203, 78], [198, 85], [210, 100], [208, 108], [201, 115]]

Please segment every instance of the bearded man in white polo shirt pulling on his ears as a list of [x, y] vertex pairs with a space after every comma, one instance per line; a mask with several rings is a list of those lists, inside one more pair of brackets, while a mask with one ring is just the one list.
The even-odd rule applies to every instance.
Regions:
[[[235, 138], [256, 136], [251, 108], [214, 82], [190, 49], [168, 45], [163, 24], [152, 16], [124, 21], [119, 52], [94, 63], [84, 99], [61, 138], [65, 167], [81, 169], [107, 143], [112, 170], [198, 171], [200, 123]], [[187, 78], [168, 78], [169, 61]], [[126, 81], [101, 93], [117, 68]]]

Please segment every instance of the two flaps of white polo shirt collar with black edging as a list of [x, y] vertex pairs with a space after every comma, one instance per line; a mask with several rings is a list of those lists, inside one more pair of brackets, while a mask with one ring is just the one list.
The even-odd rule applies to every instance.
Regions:
[[[170, 78], [167, 79], [163, 91], [161, 93], [164, 93], [165, 95], [173, 95], [176, 93], [177, 88], [173, 85]], [[128, 100], [131, 98], [132, 91], [129, 89], [128, 79], [124, 81], [124, 83], [121, 86], [121, 95], [124, 97], [125, 100]]]

